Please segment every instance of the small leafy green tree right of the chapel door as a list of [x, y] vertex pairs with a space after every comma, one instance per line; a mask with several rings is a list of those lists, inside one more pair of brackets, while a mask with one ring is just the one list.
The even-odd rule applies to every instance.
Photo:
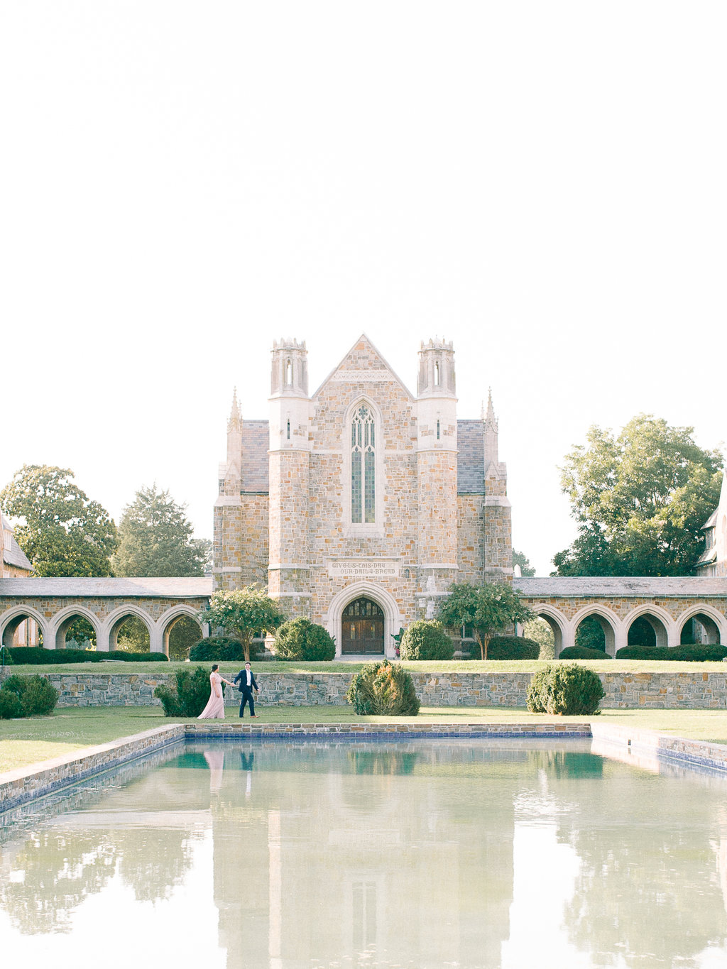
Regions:
[[471, 626], [482, 659], [488, 658], [493, 636], [505, 632], [516, 622], [527, 622], [533, 613], [507, 582], [453, 582], [450, 594], [439, 608], [438, 619], [451, 629]]

